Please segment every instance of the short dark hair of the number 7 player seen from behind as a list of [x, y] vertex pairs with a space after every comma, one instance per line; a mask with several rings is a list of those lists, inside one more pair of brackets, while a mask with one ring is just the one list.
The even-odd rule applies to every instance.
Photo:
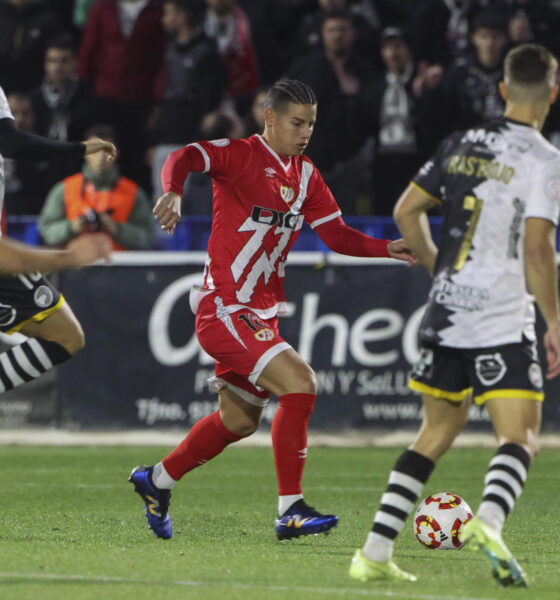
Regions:
[[[510, 50], [504, 63], [504, 81], [513, 95], [532, 95], [535, 100], [544, 99], [555, 84], [558, 62], [544, 47], [538, 44], [522, 44]], [[512, 97], [515, 101], [516, 98]], [[519, 98], [520, 100], [520, 98]]]

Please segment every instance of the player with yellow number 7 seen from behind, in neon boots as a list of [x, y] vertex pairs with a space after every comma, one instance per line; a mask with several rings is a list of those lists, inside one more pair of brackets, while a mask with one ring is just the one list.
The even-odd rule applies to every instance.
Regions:
[[[463, 539], [484, 552], [501, 585], [527, 585], [501, 533], [538, 451], [544, 394], [534, 299], [547, 325], [546, 376], [560, 374], [560, 151], [540, 134], [558, 94], [557, 70], [542, 46], [510, 51], [500, 83], [504, 116], [446, 138], [395, 207], [405, 242], [434, 276], [420, 326], [421, 358], [409, 384], [422, 394], [424, 418], [354, 555], [354, 579], [416, 581], [392, 561], [393, 543], [467, 421], [472, 398], [486, 406], [499, 447]], [[444, 210], [439, 248], [426, 219], [438, 203]]]

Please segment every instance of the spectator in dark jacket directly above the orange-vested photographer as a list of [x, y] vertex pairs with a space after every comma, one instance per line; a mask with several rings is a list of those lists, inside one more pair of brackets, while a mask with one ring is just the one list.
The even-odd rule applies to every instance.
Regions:
[[[47, 42], [43, 64], [43, 82], [30, 93], [36, 132], [61, 142], [82, 139], [86, 130], [98, 122], [100, 107], [89, 86], [78, 80], [73, 37], [63, 34]], [[46, 190], [80, 167], [79, 158], [48, 161], [43, 181]]]

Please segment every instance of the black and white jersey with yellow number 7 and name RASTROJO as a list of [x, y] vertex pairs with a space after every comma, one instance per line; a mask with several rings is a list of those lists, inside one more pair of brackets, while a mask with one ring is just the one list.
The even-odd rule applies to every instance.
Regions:
[[558, 224], [560, 151], [533, 127], [500, 117], [446, 138], [412, 185], [444, 213], [420, 338], [454, 348], [534, 339], [525, 219]]

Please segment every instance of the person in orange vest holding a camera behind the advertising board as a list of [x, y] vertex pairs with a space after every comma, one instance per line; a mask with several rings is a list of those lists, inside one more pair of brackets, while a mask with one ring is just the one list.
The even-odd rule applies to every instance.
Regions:
[[[95, 137], [114, 141], [115, 133], [97, 125], [87, 134], [87, 139]], [[113, 250], [148, 249], [154, 241], [151, 203], [105, 153], [97, 152], [86, 156], [81, 173], [49, 192], [39, 231], [48, 246], [65, 246], [82, 234], [102, 231], [111, 237]]]

